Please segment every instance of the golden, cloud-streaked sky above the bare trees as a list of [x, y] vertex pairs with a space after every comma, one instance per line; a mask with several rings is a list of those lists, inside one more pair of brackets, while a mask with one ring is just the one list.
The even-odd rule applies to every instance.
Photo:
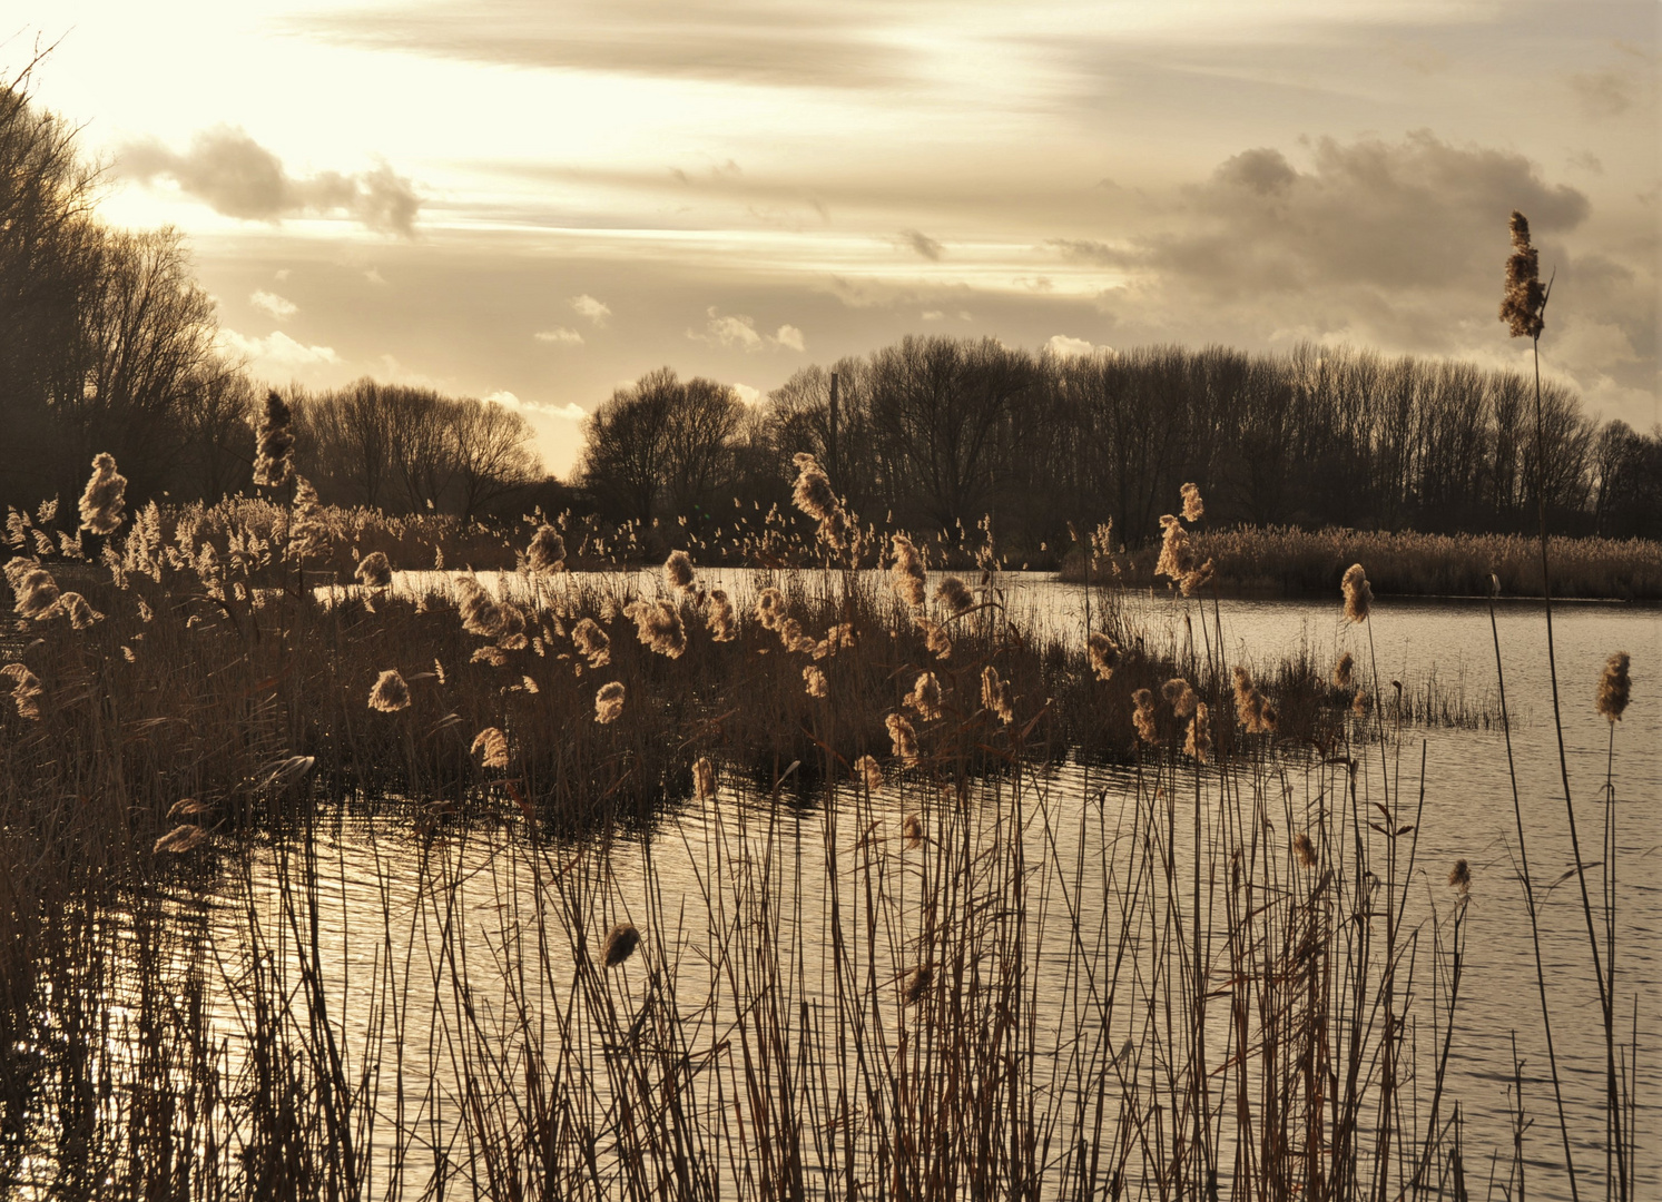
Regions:
[[53, 0], [8, 76], [184, 231], [226, 354], [495, 397], [565, 474], [647, 371], [906, 334], [1526, 366], [1662, 422], [1662, 5]]

